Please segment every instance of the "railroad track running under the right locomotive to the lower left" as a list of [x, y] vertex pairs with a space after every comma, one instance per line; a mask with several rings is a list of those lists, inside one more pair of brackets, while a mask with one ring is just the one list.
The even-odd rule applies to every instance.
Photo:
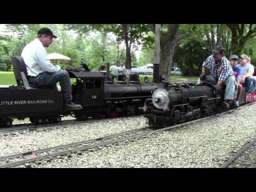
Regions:
[[[221, 114], [225, 114], [228, 112], [232, 112], [232, 110], [223, 112]], [[40, 162], [40, 160], [50, 161], [49, 158], [53, 158], [53, 157], [57, 157], [57, 158], [62, 158], [63, 156], [71, 157], [72, 153], [82, 154], [82, 151], [84, 150], [99, 148], [99, 147], [107, 146], [113, 143], [124, 142], [126, 140], [140, 138], [149, 134], [155, 134], [156, 132], [171, 130], [179, 126], [184, 126], [186, 124], [191, 124], [193, 122], [202, 121], [204, 119], [212, 118], [221, 114], [200, 118], [190, 122], [184, 122], [182, 124], [177, 124], [174, 126], [169, 126], [169, 127], [161, 128], [157, 130], [152, 130], [152, 128], [149, 128], [147, 126], [144, 128], [130, 130], [130, 131], [126, 131], [118, 134], [112, 134], [112, 135], [104, 136], [101, 138], [85, 140], [81, 142], [70, 143], [70, 144], [65, 144], [65, 145], [55, 146], [51, 148], [40, 149], [40, 150], [33, 150], [33, 151], [20, 153], [20, 154], [3, 156], [3, 157], [0, 157], [0, 168], [17, 166], [20, 164], [25, 164], [26, 167], [31, 167], [31, 164], [30, 164], [31, 162], [40, 164], [42, 163]]]

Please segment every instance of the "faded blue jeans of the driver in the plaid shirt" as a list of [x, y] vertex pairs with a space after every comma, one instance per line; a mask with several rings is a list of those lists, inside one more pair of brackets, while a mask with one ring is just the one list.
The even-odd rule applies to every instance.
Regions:
[[[198, 82], [199, 81], [200, 81], [200, 79], [198, 80]], [[218, 79], [215, 79], [213, 76], [208, 75], [208, 76], [206, 76], [206, 80], [204, 80], [204, 82], [216, 85], [218, 83]], [[228, 76], [228, 78], [224, 82], [224, 85], [226, 85], [226, 92], [225, 92], [224, 100], [233, 100], [234, 99], [235, 86], [236, 86], [235, 76], [234, 75]]]

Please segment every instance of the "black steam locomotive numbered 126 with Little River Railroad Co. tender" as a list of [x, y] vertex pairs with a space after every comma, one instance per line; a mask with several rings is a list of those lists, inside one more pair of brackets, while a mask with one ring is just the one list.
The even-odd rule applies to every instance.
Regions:
[[17, 86], [0, 88], [0, 127], [11, 126], [12, 118], [30, 118], [33, 123], [60, 122], [63, 116], [72, 115], [79, 120], [90, 117], [115, 117], [125, 114], [139, 114], [144, 102], [151, 100], [151, 91], [162, 88], [155, 83], [140, 83], [138, 73], [131, 73], [126, 82], [126, 74], [118, 74], [118, 81], [106, 74], [84, 71], [69, 71], [72, 84], [73, 102], [82, 105], [82, 110], [66, 110], [63, 107], [63, 93], [49, 85], [32, 85], [27, 81], [26, 65], [20, 56], [12, 57], [12, 65]]

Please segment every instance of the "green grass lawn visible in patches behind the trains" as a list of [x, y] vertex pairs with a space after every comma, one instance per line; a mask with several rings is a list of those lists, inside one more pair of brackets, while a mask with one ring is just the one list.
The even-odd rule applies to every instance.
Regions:
[[[153, 75], [145, 75], [148, 77], [149, 82], [151, 83], [153, 81]], [[144, 82], [144, 76], [140, 75], [140, 82]], [[187, 79], [187, 80], [192, 80], [192, 81], [197, 81], [198, 77], [192, 76], [192, 77], [184, 77], [184, 76], [171, 76], [170, 80], [174, 82], [175, 80], [178, 79]], [[75, 78], [71, 78], [71, 83], [76, 82]], [[114, 79], [114, 82], [116, 82], [116, 79]], [[16, 80], [13, 72], [5, 72], [5, 71], [0, 71], [0, 85], [16, 85]], [[59, 83], [58, 83], [59, 84]]]

